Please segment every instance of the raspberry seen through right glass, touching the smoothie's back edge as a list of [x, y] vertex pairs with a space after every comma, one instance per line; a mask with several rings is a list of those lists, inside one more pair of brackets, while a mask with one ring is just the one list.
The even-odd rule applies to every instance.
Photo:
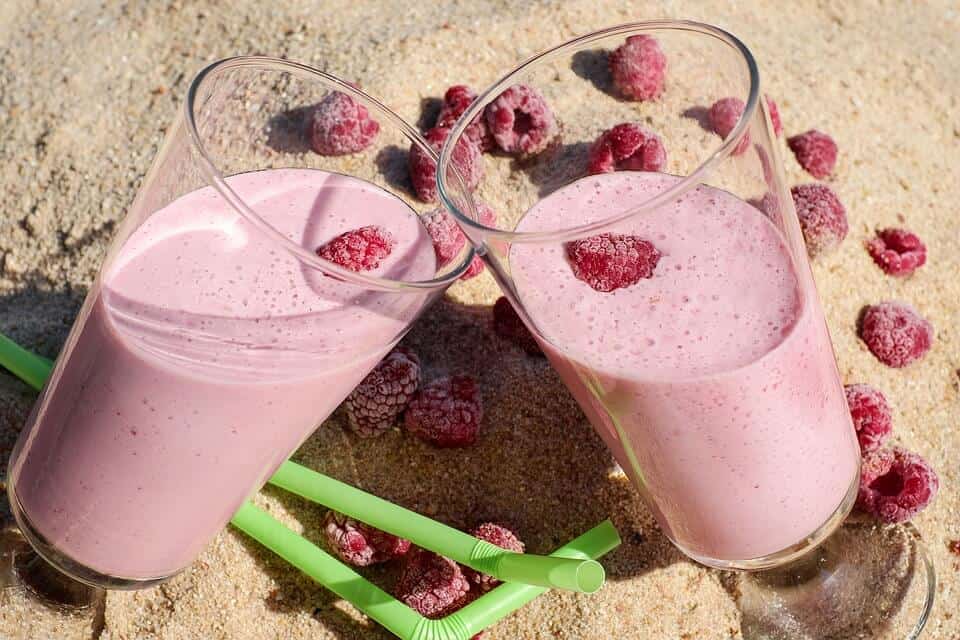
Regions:
[[590, 147], [590, 173], [661, 171], [666, 164], [660, 137], [632, 122], [607, 129]]

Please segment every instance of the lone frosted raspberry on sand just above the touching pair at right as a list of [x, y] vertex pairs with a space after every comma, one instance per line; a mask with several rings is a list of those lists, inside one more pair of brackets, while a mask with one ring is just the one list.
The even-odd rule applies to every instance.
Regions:
[[933, 344], [933, 325], [910, 305], [881, 302], [867, 307], [860, 338], [888, 367], [905, 367], [919, 360]]

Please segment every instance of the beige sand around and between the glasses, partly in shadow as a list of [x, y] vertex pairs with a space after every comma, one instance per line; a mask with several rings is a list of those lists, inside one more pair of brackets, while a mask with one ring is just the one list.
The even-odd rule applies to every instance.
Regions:
[[[788, 3], [782, 3], [788, 4]], [[842, 248], [814, 265], [845, 382], [883, 389], [896, 440], [939, 470], [937, 502], [915, 523], [939, 573], [924, 637], [960, 638], [960, 11], [955, 3], [572, 2], [370, 3], [13, 0], [0, 7], [0, 330], [53, 356], [136, 193], [190, 77], [211, 60], [282, 55], [348, 79], [411, 122], [450, 84], [484, 86], [573, 35], [635, 19], [686, 17], [740, 35], [756, 54], [788, 133], [837, 140], [832, 185], [847, 204]], [[809, 180], [787, 153], [791, 184]], [[895, 280], [861, 245], [905, 224], [929, 264]], [[358, 441], [337, 412], [297, 453], [316, 469], [459, 527], [493, 518], [545, 552], [605, 517], [624, 545], [594, 596], [551, 593], [504, 620], [491, 640], [730, 638], [744, 627], [724, 576], [673, 549], [543, 360], [492, 334], [489, 275], [457, 284], [407, 338], [427, 363], [478, 375], [481, 443], [438, 451], [404, 434]], [[904, 370], [879, 364], [855, 319], [881, 299], [910, 301], [936, 342]], [[34, 394], [0, 375], [0, 460]], [[258, 504], [318, 536], [322, 509], [265, 490]], [[390, 570], [368, 572], [388, 585]], [[348, 604], [233, 531], [156, 589], [53, 620], [7, 598], [0, 637], [110, 640], [387, 638]], [[747, 629], [749, 633], [749, 629]], [[858, 635], [859, 634], [859, 635]], [[892, 632], [872, 637], [894, 637]], [[867, 634], [870, 635], [870, 634]], [[863, 637], [854, 629], [844, 637]]]

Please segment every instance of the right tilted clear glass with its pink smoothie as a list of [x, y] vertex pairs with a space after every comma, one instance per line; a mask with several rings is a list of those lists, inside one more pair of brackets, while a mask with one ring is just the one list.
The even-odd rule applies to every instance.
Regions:
[[[627, 38], [666, 61], [662, 87], [636, 87], [646, 100], [624, 99], [611, 81], [609, 52]], [[709, 109], [730, 98], [742, 115], [721, 138]], [[450, 167], [477, 117], [501, 146], [556, 133], [532, 144], [538, 153], [494, 160], [472, 193]], [[437, 176], [442, 201], [665, 535], [711, 567], [785, 567], [741, 585], [745, 630], [792, 638], [812, 626], [809, 637], [834, 637], [829, 625], [843, 616], [816, 617], [829, 609], [827, 583], [855, 599], [853, 582], [873, 587], [885, 570], [820, 546], [854, 505], [860, 454], [747, 48], [720, 29], [666, 21], [567, 42], [479, 96]], [[498, 212], [497, 227], [477, 222], [478, 199]], [[915, 557], [907, 538], [881, 555]], [[858, 544], [880, 548], [870, 540]], [[917, 598], [923, 615], [911, 624], [928, 610], [925, 584]], [[901, 601], [880, 604], [889, 626]], [[860, 625], [867, 614], [854, 615]]]

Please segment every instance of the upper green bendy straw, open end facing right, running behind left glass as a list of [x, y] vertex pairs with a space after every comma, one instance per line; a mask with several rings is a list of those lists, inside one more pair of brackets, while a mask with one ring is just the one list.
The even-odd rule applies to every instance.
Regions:
[[[0, 364], [38, 390], [52, 366], [50, 361], [2, 334]], [[284, 462], [269, 482], [506, 582], [585, 593], [592, 593], [603, 585], [603, 567], [592, 559], [506, 551], [294, 462]], [[245, 503], [241, 512], [248, 506], [252, 507]], [[241, 520], [243, 522], [246, 521]], [[234, 518], [233, 524], [246, 531], [241, 523]]]

